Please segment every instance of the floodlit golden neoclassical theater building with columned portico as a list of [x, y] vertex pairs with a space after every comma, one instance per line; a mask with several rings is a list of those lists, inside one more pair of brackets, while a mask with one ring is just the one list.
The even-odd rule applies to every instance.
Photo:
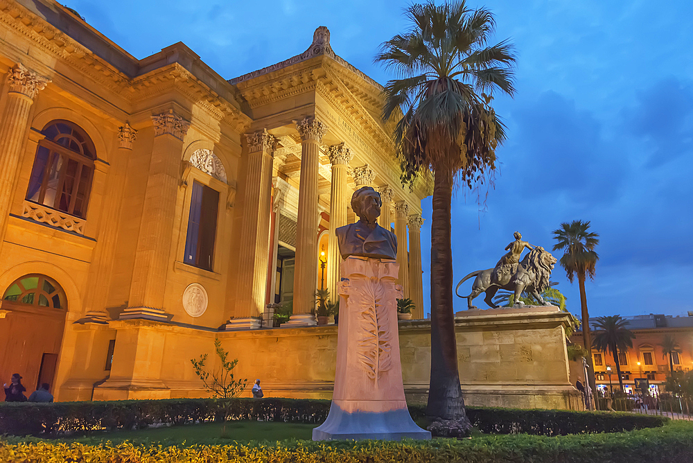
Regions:
[[[337, 300], [334, 230], [364, 185], [423, 318], [430, 181], [403, 189], [382, 87], [327, 28], [231, 79], [182, 43], [137, 60], [53, 0], [0, 0], [0, 31], [4, 381], [61, 401], [200, 396], [190, 359], [219, 337], [275, 395], [329, 390], [335, 328], [311, 313], [317, 288]], [[277, 303], [294, 315], [265, 329]]]

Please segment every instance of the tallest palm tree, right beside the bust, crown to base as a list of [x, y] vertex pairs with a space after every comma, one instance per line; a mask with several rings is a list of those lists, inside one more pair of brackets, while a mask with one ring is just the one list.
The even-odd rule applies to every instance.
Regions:
[[491, 107], [493, 91], [514, 94], [513, 46], [489, 46], [495, 19], [464, 0], [407, 8], [411, 28], [382, 45], [376, 62], [393, 68], [385, 85], [383, 120], [396, 119], [404, 184], [433, 173], [431, 220], [431, 376], [429, 429], [461, 436], [471, 429], [457, 371], [453, 317], [450, 206], [453, 186], [483, 183], [495, 171], [505, 126]]

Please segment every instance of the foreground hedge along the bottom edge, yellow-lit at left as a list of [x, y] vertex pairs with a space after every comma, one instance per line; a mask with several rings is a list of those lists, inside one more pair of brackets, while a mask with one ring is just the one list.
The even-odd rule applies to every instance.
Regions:
[[[157, 463], [690, 463], [693, 425], [669, 423], [629, 433], [382, 442], [283, 442], [204, 446], [79, 444], [0, 440], [0, 462]], [[36, 441], [37, 439], [31, 438]]]

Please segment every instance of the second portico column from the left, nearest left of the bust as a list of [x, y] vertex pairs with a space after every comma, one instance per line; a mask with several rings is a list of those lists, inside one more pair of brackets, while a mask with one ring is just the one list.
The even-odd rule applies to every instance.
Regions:
[[315, 325], [315, 284], [317, 281], [317, 173], [320, 142], [327, 126], [313, 118], [296, 121], [301, 134], [301, 179], [299, 216], [296, 224], [296, 267], [294, 273], [294, 315], [284, 325]]

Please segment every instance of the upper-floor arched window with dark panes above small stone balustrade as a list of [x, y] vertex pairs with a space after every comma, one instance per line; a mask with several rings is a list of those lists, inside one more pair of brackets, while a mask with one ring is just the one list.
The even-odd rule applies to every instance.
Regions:
[[84, 218], [94, 174], [94, 143], [68, 121], [53, 121], [42, 131], [26, 199]]

